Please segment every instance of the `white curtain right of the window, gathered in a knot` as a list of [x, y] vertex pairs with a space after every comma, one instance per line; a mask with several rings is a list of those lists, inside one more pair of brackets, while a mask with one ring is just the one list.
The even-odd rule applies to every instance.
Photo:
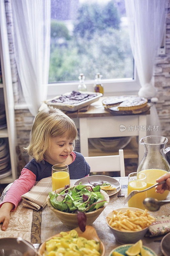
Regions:
[[[168, 0], [125, 0], [129, 21], [129, 37], [141, 88], [140, 97], [156, 97], [153, 69], [166, 25]], [[147, 125], [158, 125], [159, 130], [148, 135], [161, 133], [159, 117], [155, 106], [151, 108]]]

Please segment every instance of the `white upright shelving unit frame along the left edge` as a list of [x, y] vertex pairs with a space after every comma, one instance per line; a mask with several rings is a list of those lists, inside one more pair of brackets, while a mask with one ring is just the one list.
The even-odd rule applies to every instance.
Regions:
[[[0, 138], [5, 139], [7, 148], [9, 149], [10, 165], [8, 171], [0, 173], [1, 184], [8, 184], [16, 180], [17, 178], [17, 157], [16, 157], [16, 129], [15, 129], [15, 112], [14, 112], [14, 95], [13, 84], [11, 76], [11, 63], [10, 63], [10, 51], [8, 47], [8, 32], [5, 24], [5, 5], [3, 1], [0, 1], [0, 8], [2, 8], [2, 14], [0, 15], [0, 62], [2, 81], [0, 81], [0, 104], [5, 107], [6, 125], [7, 128], [0, 129]], [[3, 126], [5, 127], [5, 125]], [[3, 154], [2, 154], [3, 155]]]

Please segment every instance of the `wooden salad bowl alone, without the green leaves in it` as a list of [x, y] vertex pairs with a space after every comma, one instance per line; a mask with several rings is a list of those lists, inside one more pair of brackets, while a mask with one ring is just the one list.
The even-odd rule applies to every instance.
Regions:
[[[64, 188], [59, 188], [56, 190], [57, 193], [60, 193]], [[100, 215], [100, 213], [104, 210], [104, 208], [107, 206], [109, 203], [109, 196], [107, 195], [106, 192], [103, 190], [100, 190], [100, 193], [104, 196], [105, 200], [107, 201], [104, 203], [103, 207], [92, 211], [92, 212], [85, 212], [85, 215], [87, 217], [86, 225], [92, 225], [93, 222], [97, 219], [97, 217]], [[47, 197], [47, 204], [50, 207], [50, 209], [55, 213], [55, 215], [58, 217], [59, 220], [63, 222], [63, 224], [67, 228], [76, 228], [78, 227], [78, 220], [77, 220], [77, 213], [69, 213], [69, 212], [61, 212], [57, 209], [55, 209], [51, 203], [50, 203], [50, 197]]]

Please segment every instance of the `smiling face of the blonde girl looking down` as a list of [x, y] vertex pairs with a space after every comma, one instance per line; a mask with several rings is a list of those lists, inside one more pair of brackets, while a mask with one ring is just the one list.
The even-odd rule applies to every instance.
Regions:
[[74, 139], [64, 137], [52, 137], [50, 147], [46, 150], [44, 158], [50, 164], [70, 164], [70, 153], [73, 151]]

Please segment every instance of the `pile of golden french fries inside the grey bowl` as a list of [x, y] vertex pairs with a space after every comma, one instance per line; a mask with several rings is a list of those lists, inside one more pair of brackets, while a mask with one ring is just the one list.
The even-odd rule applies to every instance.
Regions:
[[120, 231], [139, 231], [148, 227], [156, 219], [145, 209], [144, 212], [136, 210], [113, 211], [112, 217], [107, 217], [108, 224]]

